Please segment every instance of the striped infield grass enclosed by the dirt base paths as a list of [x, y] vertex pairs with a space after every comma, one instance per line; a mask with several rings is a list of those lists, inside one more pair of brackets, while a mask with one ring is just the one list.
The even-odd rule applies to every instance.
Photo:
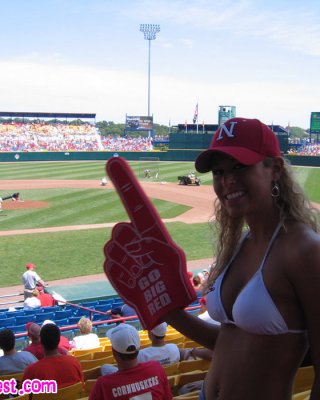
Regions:
[[[102, 224], [127, 220], [127, 214], [114, 190], [34, 189], [24, 190], [28, 200], [46, 201], [49, 207], [4, 211], [0, 229], [31, 229], [52, 226]], [[151, 199], [161, 218], [174, 218], [190, 207]]]

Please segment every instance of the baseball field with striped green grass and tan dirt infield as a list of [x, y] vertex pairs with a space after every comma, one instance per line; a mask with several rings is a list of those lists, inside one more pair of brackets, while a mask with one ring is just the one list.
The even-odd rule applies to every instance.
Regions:
[[[211, 258], [211, 174], [200, 174], [201, 186], [181, 186], [177, 177], [193, 171], [193, 163], [159, 163], [150, 178], [141, 176], [141, 163], [130, 164], [187, 260]], [[105, 162], [1, 163], [0, 171], [0, 197], [21, 194], [21, 201], [3, 202], [0, 213], [0, 287], [20, 284], [27, 262], [48, 281], [103, 271], [112, 226], [128, 219], [110, 181], [100, 186]], [[320, 169], [294, 172], [320, 203]]]

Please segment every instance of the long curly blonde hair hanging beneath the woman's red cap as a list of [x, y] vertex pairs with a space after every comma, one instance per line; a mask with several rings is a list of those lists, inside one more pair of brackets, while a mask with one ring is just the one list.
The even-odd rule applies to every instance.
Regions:
[[[315, 232], [319, 232], [319, 212], [312, 207], [302, 188], [293, 177], [293, 171], [287, 160], [284, 161], [282, 173], [277, 184], [279, 197], [275, 198], [275, 206], [279, 209], [280, 221], [293, 220], [302, 222]], [[270, 168], [274, 158], [264, 160], [264, 166]], [[270, 188], [271, 192], [271, 188]], [[216, 277], [227, 265], [235, 251], [235, 243], [239, 243], [243, 231], [247, 228], [244, 218], [230, 217], [218, 198], [214, 201], [214, 214], [210, 219], [210, 227], [216, 238], [216, 261], [211, 266], [205, 291], [212, 286]], [[215, 234], [215, 235], [214, 235]]]

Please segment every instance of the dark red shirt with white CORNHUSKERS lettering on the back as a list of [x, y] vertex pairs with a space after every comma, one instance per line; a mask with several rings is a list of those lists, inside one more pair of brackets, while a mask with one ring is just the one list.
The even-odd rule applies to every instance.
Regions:
[[172, 399], [166, 373], [157, 361], [137, 364], [98, 378], [89, 400], [130, 400], [140, 396], [152, 400]]

